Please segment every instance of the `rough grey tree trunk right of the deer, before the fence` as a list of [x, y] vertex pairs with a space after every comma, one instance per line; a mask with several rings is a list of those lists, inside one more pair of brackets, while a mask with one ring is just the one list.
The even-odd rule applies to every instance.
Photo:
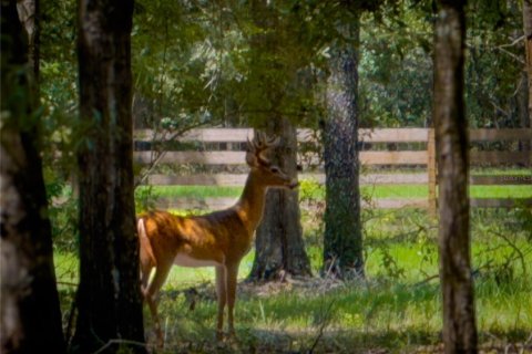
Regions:
[[323, 126], [326, 174], [324, 273], [364, 277], [358, 159], [359, 20], [341, 29], [354, 43], [332, 45]]

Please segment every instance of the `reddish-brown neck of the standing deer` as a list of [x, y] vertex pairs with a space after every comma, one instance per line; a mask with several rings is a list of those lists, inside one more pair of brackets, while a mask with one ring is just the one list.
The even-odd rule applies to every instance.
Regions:
[[241, 199], [236, 204], [236, 211], [249, 232], [255, 231], [263, 218], [266, 188], [260, 181], [260, 177], [250, 171]]

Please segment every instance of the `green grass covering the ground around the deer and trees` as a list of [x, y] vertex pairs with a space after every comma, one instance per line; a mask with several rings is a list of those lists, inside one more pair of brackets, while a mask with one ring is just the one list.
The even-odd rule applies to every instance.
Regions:
[[[523, 343], [532, 333], [532, 239], [519, 210], [471, 214], [477, 319], [483, 345]], [[304, 219], [307, 251], [315, 273], [320, 268], [319, 229]], [[368, 210], [365, 281], [339, 283], [318, 278], [283, 284], [238, 288], [237, 343], [214, 341], [214, 272], [174, 267], [163, 288], [160, 313], [168, 353], [410, 353], [440, 343], [441, 299], [436, 225], [424, 212]], [[519, 251], [519, 252], [518, 252]], [[253, 263], [241, 266], [241, 281]], [[76, 259], [55, 252], [63, 309], [70, 309], [78, 281]], [[196, 288], [194, 311], [185, 290]], [[147, 309], [146, 333], [153, 341]]]

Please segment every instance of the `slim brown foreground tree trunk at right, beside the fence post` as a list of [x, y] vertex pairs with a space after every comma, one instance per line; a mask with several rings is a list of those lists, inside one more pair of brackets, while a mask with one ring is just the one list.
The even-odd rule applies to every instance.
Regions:
[[463, 104], [463, 1], [440, 1], [436, 24], [434, 123], [439, 252], [446, 353], [477, 353], [469, 237], [468, 124]]

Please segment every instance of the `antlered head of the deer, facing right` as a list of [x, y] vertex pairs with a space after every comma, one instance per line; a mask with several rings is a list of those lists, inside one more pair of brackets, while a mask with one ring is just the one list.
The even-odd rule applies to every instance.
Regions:
[[257, 132], [252, 142], [247, 139], [246, 163], [252, 168], [252, 174], [259, 176], [265, 186], [294, 189], [298, 186], [297, 180], [272, 164], [267, 157], [267, 154], [278, 146], [279, 140], [278, 136], [268, 137], [263, 132]]

